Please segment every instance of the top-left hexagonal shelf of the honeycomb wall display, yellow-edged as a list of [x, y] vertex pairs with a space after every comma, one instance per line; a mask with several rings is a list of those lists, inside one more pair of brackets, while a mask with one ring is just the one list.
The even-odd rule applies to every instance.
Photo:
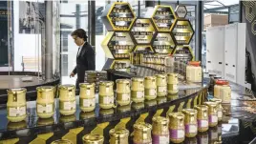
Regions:
[[136, 16], [129, 3], [115, 2], [106, 6], [101, 19], [108, 31], [130, 31]]

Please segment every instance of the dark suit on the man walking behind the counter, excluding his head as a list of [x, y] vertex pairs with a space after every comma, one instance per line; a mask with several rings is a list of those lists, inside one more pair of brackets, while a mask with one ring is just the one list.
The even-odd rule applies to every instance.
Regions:
[[76, 67], [73, 71], [75, 74], [77, 73], [76, 88], [78, 88], [79, 83], [84, 82], [85, 71], [96, 70], [95, 56], [96, 52], [92, 46], [88, 42], [85, 42], [80, 53], [76, 55]]

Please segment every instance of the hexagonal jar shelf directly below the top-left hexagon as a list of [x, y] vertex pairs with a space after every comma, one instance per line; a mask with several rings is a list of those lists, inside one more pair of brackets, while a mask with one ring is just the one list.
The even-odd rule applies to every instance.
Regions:
[[129, 52], [134, 49], [135, 45], [128, 31], [109, 31], [101, 47], [108, 58], [129, 59]]

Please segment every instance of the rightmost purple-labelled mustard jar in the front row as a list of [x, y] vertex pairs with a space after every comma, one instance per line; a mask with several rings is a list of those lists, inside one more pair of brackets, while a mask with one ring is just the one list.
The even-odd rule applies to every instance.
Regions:
[[215, 127], [218, 124], [217, 104], [216, 102], [204, 102], [208, 107], [209, 127]]

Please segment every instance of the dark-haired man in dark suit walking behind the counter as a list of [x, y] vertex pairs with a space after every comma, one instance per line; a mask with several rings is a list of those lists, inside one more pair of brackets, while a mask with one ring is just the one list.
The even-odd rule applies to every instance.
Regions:
[[95, 51], [92, 46], [87, 42], [86, 31], [77, 29], [72, 32], [72, 37], [75, 44], [79, 47], [76, 54], [76, 66], [70, 77], [74, 77], [77, 73], [76, 89], [79, 88], [79, 83], [84, 82], [85, 71], [95, 71]]

